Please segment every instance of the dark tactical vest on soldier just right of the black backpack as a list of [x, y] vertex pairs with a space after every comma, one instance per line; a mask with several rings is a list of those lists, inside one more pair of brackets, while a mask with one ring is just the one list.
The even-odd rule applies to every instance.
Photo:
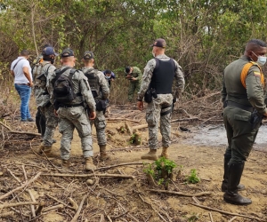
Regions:
[[88, 83], [90, 85], [93, 98], [101, 99], [102, 97], [101, 85], [99, 83], [99, 77], [97, 75], [97, 72], [98, 70], [92, 67], [85, 72], [85, 76], [88, 78]]

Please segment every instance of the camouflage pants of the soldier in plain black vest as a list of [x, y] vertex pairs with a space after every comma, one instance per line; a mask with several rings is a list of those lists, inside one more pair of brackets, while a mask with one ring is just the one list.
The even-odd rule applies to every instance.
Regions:
[[149, 147], [157, 149], [158, 146], [158, 124], [160, 123], [160, 133], [162, 135], [162, 147], [169, 147], [171, 144], [171, 113], [160, 115], [170, 108], [173, 104], [172, 94], [158, 94], [158, 98], [153, 98], [148, 104], [146, 111], [146, 121], [149, 126]]

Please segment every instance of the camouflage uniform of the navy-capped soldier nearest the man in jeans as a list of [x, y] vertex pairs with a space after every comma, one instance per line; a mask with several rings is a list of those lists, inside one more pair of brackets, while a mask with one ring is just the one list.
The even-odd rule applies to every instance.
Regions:
[[58, 117], [53, 113], [54, 107], [46, 89], [47, 79], [53, 74], [55, 68], [50, 61], [43, 61], [38, 66], [36, 65], [33, 70], [35, 74], [36, 106], [45, 116], [44, 147], [52, 147], [54, 131], [58, 125]]

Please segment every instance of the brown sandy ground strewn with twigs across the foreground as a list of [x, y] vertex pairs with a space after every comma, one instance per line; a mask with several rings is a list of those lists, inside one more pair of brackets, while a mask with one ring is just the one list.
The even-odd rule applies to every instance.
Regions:
[[[36, 131], [33, 123], [20, 123], [21, 129]], [[132, 123], [129, 123], [130, 125]], [[208, 192], [210, 194], [198, 196], [200, 205], [210, 209], [203, 209], [195, 206], [196, 203], [190, 196], [177, 194], [152, 193], [148, 189], [162, 189], [161, 186], [150, 186], [148, 179], [143, 172], [143, 161], [141, 155], [148, 152], [147, 129], [142, 129], [142, 146], [131, 147], [128, 142], [129, 135], [118, 134], [117, 128], [124, 126], [124, 122], [108, 123], [108, 134], [114, 133], [108, 140], [109, 155], [112, 160], [109, 163], [98, 161], [98, 146], [95, 139], [93, 128], [93, 150], [94, 163], [98, 168], [108, 167], [121, 163], [131, 163], [125, 166], [112, 167], [106, 170], [96, 172], [132, 175], [132, 178], [100, 178], [96, 186], [88, 186], [85, 181], [87, 178], [69, 178], [69, 177], [50, 177], [40, 176], [29, 188], [34, 193], [36, 200], [42, 200], [47, 206], [59, 204], [59, 202], [48, 198], [46, 194], [57, 197], [61, 202], [69, 205], [68, 198], [72, 197], [79, 204], [85, 194], [86, 197], [80, 216], [77, 221], [267, 221], [267, 155], [262, 151], [253, 151], [245, 165], [241, 183], [246, 186], [246, 190], [240, 192], [252, 199], [252, 204], [248, 206], [235, 206], [223, 202], [223, 193], [220, 190], [223, 178], [223, 153], [224, 145], [199, 146], [190, 144], [192, 135], [188, 132], [179, 131], [177, 125], [173, 126], [172, 139], [173, 144], [169, 148], [170, 159], [176, 163], [176, 169], [181, 170], [181, 176], [174, 179], [174, 183], [169, 185], [168, 190], [180, 192], [182, 194], [198, 194]], [[158, 135], [160, 139], [160, 135]], [[53, 157], [49, 160], [53, 163], [59, 158], [59, 147], [61, 134], [56, 132], [55, 139], [57, 143], [53, 147]], [[205, 139], [205, 137], [203, 137]], [[186, 142], [185, 142], [186, 141]], [[38, 156], [34, 153], [37, 150], [38, 140], [30, 140], [23, 149], [10, 147], [4, 149], [1, 158], [0, 171], [0, 200], [1, 196], [9, 190], [7, 186], [15, 188], [20, 184], [8, 173], [7, 169], [17, 172], [17, 177], [24, 180], [21, 165], [25, 166], [28, 178], [36, 175], [37, 171], [42, 173], [58, 173], [53, 169], [51, 163], [44, 156]], [[83, 170], [82, 150], [80, 139], [77, 132], [71, 145], [71, 163], [69, 170], [61, 170], [66, 174], [86, 174]], [[161, 148], [158, 149], [158, 155]], [[136, 164], [133, 164], [136, 163]], [[39, 168], [38, 168], [39, 167]], [[44, 172], [46, 169], [46, 172]], [[197, 170], [200, 182], [190, 184], [186, 178], [190, 175], [190, 170]], [[5, 182], [4, 182], [5, 181]], [[21, 191], [20, 191], [21, 192]], [[2, 202], [14, 202], [14, 200], [23, 202], [30, 201], [27, 194], [23, 192], [15, 193], [16, 196], [9, 199], [3, 199]], [[22, 194], [23, 193], [23, 194]], [[1, 205], [0, 205], [1, 206]], [[1, 208], [1, 207], [0, 207]], [[220, 212], [220, 210], [223, 210]], [[7, 210], [8, 211], [8, 210]], [[6, 210], [0, 211], [1, 213]], [[22, 212], [30, 214], [29, 208], [23, 208]], [[236, 216], [243, 215], [244, 217]], [[39, 216], [39, 219], [31, 221], [71, 221], [75, 211], [64, 207], [63, 210], [53, 210], [45, 212]], [[104, 220], [101, 220], [101, 217]], [[246, 218], [248, 217], [248, 218]], [[250, 218], [249, 218], [250, 217]], [[23, 218], [23, 219], [22, 219]], [[234, 218], [234, 220], [231, 220]], [[30, 221], [22, 217], [20, 213], [14, 212], [14, 216], [0, 218], [0, 221]]]

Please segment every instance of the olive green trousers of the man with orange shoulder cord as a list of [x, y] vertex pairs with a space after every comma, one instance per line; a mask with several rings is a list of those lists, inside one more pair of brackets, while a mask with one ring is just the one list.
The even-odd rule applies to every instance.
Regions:
[[228, 139], [224, 156], [231, 158], [230, 163], [247, 161], [259, 130], [252, 129], [251, 113], [239, 107], [225, 107], [223, 123]]

